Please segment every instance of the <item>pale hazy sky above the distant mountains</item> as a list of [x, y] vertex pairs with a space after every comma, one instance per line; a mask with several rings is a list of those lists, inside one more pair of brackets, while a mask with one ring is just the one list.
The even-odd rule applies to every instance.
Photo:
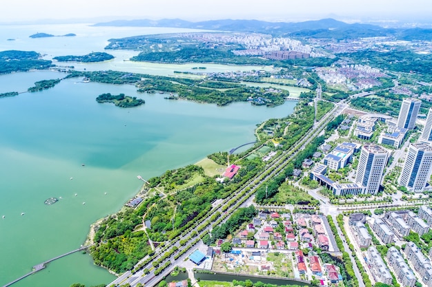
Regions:
[[[39, 19], [415, 19], [431, 0], [0, 0], [0, 22]], [[431, 20], [432, 21], [432, 20]]]

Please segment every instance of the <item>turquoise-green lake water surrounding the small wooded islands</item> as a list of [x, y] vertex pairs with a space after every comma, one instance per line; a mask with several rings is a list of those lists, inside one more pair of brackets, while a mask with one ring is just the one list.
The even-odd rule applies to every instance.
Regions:
[[[145, 34], [142, 28], [49, 28], [1, 29], [0, 50], [35, 50], [47, 57], [87, 54], [102, 51], [106, 39]], [[177, 30], [145, 31], [154, 34]], [[78, 36], [28, 38], [35, 32], [71, 32]], [[6, 41], [11, 38], [17, 40]], [[113, 63], [102, 63], [95, 70], [105, 70], [104, 65]], [[123, 65], [119, 70], [128, 70], [130, 62], [119, 63]], [[135, 72], [137, 65], [129, 68]], [[208, 65], [208, 69], [246, 67]], [[139, 70], [172, 74], [181, 69], [178, 65], [139, 63]], [[35, 81], [63, 76], [48, 71], [1, 75], [0, 92], [23, 92]], [[122, 109], [97, 103], [97, 95], [106, 92], [144, 98], [146, 104]], [[43, 92], [1, 98], [0, 285], [28, 273], [35, 264], [78, 248], [92, 222], [115, 213], [137, 193], [141, 187], [138, 175], [158, 176], [197, 162], [209, 153], [250, 142], [255, 139], [253, 131], [258, 123], [291, 114], [295, 104], [266, 108], [235, 103], [217, 107], [164, 100], [161, 94], [139, 94], [132, 85], [80, 83], [78, 78], [61, 81]], [[43, 204], [51, 197], [61, 199], [51, 206]], [[113, 278], [95, 266], [90, 256], [75, 253], [14, 286], [68, 287], [76, 282], [91, 286], [108, 284]]]

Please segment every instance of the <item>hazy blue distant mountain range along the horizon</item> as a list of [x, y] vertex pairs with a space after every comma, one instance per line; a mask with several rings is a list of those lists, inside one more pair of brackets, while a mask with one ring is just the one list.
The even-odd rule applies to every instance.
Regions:
[[297, 23], [267, 22], [258, 20], [211, 20], [190, 22], [181, 19], [116, 20], [97, 23], [95, 26], [172, 27], [230, 32], [255, 32], [273, 36], [297, 36], [324, 39], [356, 39], [373, 36], [395, 36], [402, 40], [432, 40], [432, 29], [383, 28], [378, 25], [345, 23], [335, 19], [321, 19]]

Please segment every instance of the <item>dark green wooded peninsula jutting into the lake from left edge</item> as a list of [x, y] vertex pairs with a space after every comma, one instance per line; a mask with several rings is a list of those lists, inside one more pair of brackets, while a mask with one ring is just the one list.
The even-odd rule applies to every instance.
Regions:
[[8, 50], [0, 52], [0, 74], [45, 70], [52, 67], [51, 61], [41, 60], [41, 54], [35, 51]]

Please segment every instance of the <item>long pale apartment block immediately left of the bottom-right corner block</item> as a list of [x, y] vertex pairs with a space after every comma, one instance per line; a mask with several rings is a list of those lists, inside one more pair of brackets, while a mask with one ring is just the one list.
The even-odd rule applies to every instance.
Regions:
[[387, 251], [387, 263], [395, 271], [395, 277], [404, 287], [413, 287], [415, 284], [415, 275], [413, 270], [406, 264], [402, 254], [393, 246]]

